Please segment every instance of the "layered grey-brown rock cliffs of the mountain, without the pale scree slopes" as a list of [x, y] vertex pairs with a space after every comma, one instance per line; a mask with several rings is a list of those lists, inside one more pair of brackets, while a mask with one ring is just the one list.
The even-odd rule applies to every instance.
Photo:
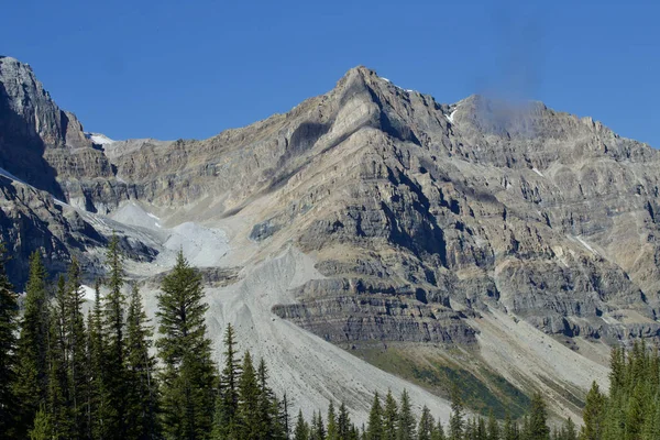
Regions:
[[[21, 258], [85, 257], [105, 239], [82, 213], [130, 200], [170, 224], [231, 224], [232, 243], [256, 250], [241, 264], [292, 245], [312, 255], [324, 278], [273, 311], [336, 343], [474, 345], [469, 322], [488, 310], [549, 334], [660, 337], [660, 154], [591, 118], [441, 105], [358, 67], [208, 140], [95, 145], [28, 66], [0, 58], [0, 165], [81, 212], [6, 186], [4, 218], [30, 219], [0, 222], [10, 242], [30, 235]], [[142, 244], [127, 240], [148, 260]]]

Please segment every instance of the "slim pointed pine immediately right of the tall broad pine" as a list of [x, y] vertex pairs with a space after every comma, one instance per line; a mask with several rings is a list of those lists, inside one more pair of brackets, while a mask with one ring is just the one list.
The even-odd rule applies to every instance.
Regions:
[[233, 439], [238, 436], [240, 361], [237, 358], [234, 330], [231, 324], [227, 326], [224, 332], [223, 354], [224, 367], [220, 373], [213, 420], [213, 439], [216, 440]]

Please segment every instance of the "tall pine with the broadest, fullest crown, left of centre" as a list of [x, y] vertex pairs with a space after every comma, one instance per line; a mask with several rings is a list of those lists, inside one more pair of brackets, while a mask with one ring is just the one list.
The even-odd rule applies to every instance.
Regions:
[[216, 367], [206, 336], [201, 276], [179, 251], [157, 296], [160, 320], [156, 342], [163, 360], [162, 411], [167, 439], [207, 439], [213, 425]]

